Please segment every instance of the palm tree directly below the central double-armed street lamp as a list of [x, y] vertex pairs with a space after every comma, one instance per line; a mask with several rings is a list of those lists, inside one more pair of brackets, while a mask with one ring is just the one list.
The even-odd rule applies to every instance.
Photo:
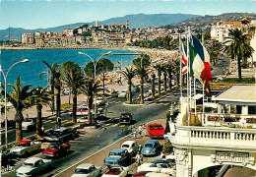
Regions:
[[[88, 123], [92, 125], [93, 123], [93, 117], [92, 117], [92, 107], [93, 107], [93, 100], [95, 95], [100, 95], [99, 92], [102, 91], [102, 89], [98, 86], [98, 84], [95, 84], [95, 80], [89, 78], [85, 81], [85, 85], [81, 87], [81, 92], [87, 95], [87, 102], [88, 102]], [[95, 110], [96, 114], [96, 110]]]

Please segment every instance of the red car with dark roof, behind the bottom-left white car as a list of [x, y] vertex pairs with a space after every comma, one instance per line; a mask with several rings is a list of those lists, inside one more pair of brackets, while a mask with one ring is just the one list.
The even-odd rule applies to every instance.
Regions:
[[48, 148], [45, 148], [42, 151], [42, 155], [46, 157], [58, 157], [68, 153], [69, 148], [70, 148], [69, 144], [52, 143], [51, 145], [49, 145]]

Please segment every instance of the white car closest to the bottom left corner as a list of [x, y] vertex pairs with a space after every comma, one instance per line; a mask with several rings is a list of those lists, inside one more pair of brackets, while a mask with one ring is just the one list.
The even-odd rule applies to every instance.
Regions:
[[23, 165], [16, 170], [16, 176], [36, 176], [49, 168], [51, 160], [39, 157], [31, 157], [23, 162]]

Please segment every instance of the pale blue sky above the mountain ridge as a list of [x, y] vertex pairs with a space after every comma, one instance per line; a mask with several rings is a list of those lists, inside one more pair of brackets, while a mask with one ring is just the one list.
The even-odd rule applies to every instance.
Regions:
[[256, 13], [256, 0], [0, 0], [0, 29], [51, 28], [130, 14]]

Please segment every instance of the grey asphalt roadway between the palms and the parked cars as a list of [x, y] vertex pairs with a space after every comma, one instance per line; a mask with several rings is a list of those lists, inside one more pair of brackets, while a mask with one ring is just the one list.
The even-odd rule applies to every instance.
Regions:
[[[118, 117], [121, 112], [132, 112], [134, 114], [134, 119], [137, 121], [136, 126], [153, 120], [158, 122], [158, 119], [165, 117], [169, 109], [170, 102], [176, 102], [178, 98], [179, 96], [171, 95], [149, 105], [125, 105], [125, 99], [112, 98], [109, 100], [107, 116]], [[63, 118], [64, 117], [65, 115], [63, 114]], [[69, 116], [67, 115], [67, 117]], [[48, 122], [45, 124], [54, 123]], [[106, 130], [96, 129], [88, 134], [80, 135], [79, 138], [74, 141], [70, 141], [70, 153], [62, 158], [53, 159], [53, 169], [45, 173], [43, 176], [52, 176], [58, 171], [65, 169], [69, 165], [85, 158], [86, 156], [89, 156], [100, 148], [106, 147], [130, 132], [131, 128], [128, 126], [113, 124], [108, 126]], [[36, 156], [42, 157], [41, 154], [36, 154]], [[16, 164], [15, 169], [20, 167], [24, 160], [25, 158], [22, 158], [21, 161]], [[4, 174], [3, 176], [15, 176], [15, 171]]]

